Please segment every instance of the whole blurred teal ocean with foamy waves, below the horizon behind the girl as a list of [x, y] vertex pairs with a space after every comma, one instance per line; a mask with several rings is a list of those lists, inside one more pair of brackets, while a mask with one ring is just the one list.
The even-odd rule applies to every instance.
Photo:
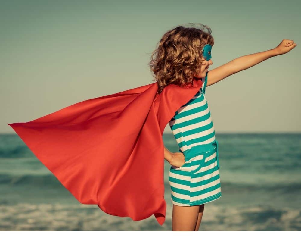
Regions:
[[[301, 231], [301, 134], [218, 134], [222, 196], [205, 204], [200, 231]], [[171, 152], [178, 145], [163, 134]], [[166, 221], [133, 221], [79, 203], [17, 134], [0, 135], [0, 231], [171, 231]]]

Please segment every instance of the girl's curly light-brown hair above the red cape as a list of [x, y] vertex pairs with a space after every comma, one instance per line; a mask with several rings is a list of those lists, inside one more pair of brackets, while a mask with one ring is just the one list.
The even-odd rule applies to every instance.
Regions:
[[155, 78], [153, 81], [158, 84], [158, 93], [171, 83], [179, 86], [192, 84], [194, 74], [202, 64], [203, 47], [214, 45], [210, 27], [190, 25], [177, 26], [164, 33], [152, 52], [149, 66]]

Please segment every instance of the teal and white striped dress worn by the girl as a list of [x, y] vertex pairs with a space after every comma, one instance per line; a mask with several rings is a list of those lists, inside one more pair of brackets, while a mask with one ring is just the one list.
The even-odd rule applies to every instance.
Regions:
[[[206, 83], [207, 74], [197, 94], [179, 108], [169, 121], [180, 152], [193, 153], [193, 148], [200, 149], [198, 145], [211, 146], [211, 142], [216, 142], [211, 114], [204, 95]], [[194, 153], [200, 154], [195, 150]], [[200, 205], [221, 197], [217, 146], [216, 149], [199, 154], [190, 155], [189, 160], [185, 156], [185, 164], [181, 167], [170, 167], [169, 185], [174, 205]]]

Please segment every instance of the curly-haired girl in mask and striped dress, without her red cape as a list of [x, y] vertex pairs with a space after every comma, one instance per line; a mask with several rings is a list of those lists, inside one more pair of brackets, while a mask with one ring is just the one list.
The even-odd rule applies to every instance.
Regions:
[[[209, 30], [208, 33], [204, 29]], [[276, 48], [246, 55], [208, 70], [213, 64], [211, 29], [178, 26], [166, 32], [151, 57], [159, 92], [169, 84], [202, 81], [200, 91], [182, 105], [169, 121], [179, 152], [164, 147], [164, 158], [171, 164], [172, 230], [198, 231], [204, 204], [221, 197], [218, 141], [205, 97], [205, 88], [226, 77], [252, 67], [272, 56], [282, 55], [296, 46], [284, 39]]]

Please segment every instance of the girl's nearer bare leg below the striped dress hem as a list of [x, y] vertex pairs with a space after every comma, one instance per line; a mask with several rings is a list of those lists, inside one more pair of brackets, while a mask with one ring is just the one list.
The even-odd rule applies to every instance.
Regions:
[[184, 207], [173, 204], [172, 231], [194, 231], [197, 228], [199, 211], [200, 205]]

